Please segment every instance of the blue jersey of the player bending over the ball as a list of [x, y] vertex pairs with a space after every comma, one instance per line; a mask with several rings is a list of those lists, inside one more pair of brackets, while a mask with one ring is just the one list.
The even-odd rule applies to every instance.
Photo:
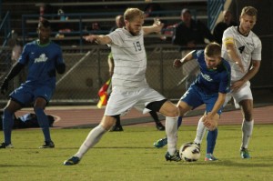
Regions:
[[197, 59], [200, 73], [197, 75], [195, 85], [202, 89], [207, 95], [223, 93], [230, 91], [230, 65], [222, 58], [216, 69], [208, 69], [205, 61], [204, 50], [198, 50], [193, 53]]

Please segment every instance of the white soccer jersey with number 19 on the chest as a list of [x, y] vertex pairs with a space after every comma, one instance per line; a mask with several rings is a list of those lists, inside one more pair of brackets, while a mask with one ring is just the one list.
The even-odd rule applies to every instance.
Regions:
[[131, 35], [125, 28], [117, 28], [108, 35], [111, 40], [115, 68], [112, 76], [113, 89], [136, 90], [146, 87], [147, 55], [143, 30]]

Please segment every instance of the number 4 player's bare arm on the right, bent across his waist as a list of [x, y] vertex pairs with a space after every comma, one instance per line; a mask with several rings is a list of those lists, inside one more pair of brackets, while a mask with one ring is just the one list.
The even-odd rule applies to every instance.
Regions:
[[248, 80], [250, 80], [252, 77], [254, 77], [258, 73], [259, 66], [260, 66], [260, 61], [252, 60], [252, 66], [250, 67], [248, 73], [244, 75], [240, 80], [236, 81], [231, 86], [231, 89], [236, 91], [246, 82], [248, 82]]

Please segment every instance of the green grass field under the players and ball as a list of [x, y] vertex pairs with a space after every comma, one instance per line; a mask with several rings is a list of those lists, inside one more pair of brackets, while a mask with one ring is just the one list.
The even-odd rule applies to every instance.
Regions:
[[[153, 142], [165, 136], [154, 126], [125, 126], [124, 132], [107, 133], [76, 166], [63, 166], [73, 156], [90, 129], [53, 129], [56, 148], [38, 149], [39, 129], [15, 130], [13, 149], [0, 150], [0, 180], [272, 180], [273, 125], [256, 125], [250, 142], [251, 159], [239, 157], [240, 126], [219, 126], [216, 162], [205, 162], [206, 141], [195, 163], [167, 162], [167, 148]], [[3, 139], [3, 132], [1, 139]], [[196, 126], [182, 126], [178, 147], [194, 139]]]

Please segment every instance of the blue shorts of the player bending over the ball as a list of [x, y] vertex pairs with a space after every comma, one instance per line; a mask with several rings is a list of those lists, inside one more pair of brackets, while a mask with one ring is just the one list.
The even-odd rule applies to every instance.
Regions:
[[[215, 105], [218, 98], [218, 93], [207, 95], [201, 88], [197, 85], [190, 85], [187, 92], [180, 98], [181, 101], [187, 103], [188, 106], [192, 106], [193, 109], [197, 106], [203, 104], [206, 105], [206, 111], [211, 112], [213, 106]], [[223, 106], [217, 111], [218, 115], [221, 115]]]

